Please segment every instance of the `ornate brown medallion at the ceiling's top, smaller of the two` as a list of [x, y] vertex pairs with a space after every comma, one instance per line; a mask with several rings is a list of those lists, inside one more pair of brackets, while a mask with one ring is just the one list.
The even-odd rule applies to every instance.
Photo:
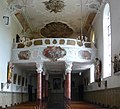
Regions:
[[54, 13], [61, 12], [65, 6], [62, 0], [49, 0], [43, 3], [46, 6], [46, 10]]

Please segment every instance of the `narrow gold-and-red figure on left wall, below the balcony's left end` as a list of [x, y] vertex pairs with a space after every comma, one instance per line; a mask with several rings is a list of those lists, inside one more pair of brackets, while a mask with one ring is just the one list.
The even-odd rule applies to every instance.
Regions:
[[7, 83], [12, 82], [12, 73], [13, 73], [13, 64], [11, 62], [8, 62], [7, 66]]

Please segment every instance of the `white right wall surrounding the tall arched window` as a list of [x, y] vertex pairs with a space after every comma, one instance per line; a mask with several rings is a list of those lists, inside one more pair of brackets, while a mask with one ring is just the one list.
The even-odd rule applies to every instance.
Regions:
[[[112, 24], [112, 59], [114, 54], [120, 53], [120, 0], [109, 0], [110, 3], [110, 11], [111, 11], [111, 24]], [[98, 58], [103, 62], [103, 9], [101, 9], [100, 13], [97, 14], [93, 27], [95, 29], [96, 37], [97, 37], [97, 47], [98, 47]], [[104, 81], [107, 80], [107, 88], [115, 88], [120, 87], [120, 75], [115, 76], [113, 73], [113, 64], [112, 68], [112, 76], [103, 79], [101, 83], [101, 87], [98, 87], [97, 83], [91, 83], [87, 90], [100, 90], [105, 89]]]

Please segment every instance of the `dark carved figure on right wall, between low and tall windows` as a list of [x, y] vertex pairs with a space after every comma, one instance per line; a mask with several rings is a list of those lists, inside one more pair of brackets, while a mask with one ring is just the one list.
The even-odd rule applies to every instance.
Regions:
[[98, 58], [95, 58], [95, 81], [101, 81], [101, 61]]

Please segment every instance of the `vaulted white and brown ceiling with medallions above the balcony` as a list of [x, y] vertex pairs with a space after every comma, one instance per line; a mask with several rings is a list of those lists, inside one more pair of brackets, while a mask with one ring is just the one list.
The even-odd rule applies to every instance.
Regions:
[[[88, 35], [102, 0], [7, 0], [30, 38]], [[82, 32], [81, 32], [82, 31]], [[89, 36], [88, 36], [89, 37]]]

